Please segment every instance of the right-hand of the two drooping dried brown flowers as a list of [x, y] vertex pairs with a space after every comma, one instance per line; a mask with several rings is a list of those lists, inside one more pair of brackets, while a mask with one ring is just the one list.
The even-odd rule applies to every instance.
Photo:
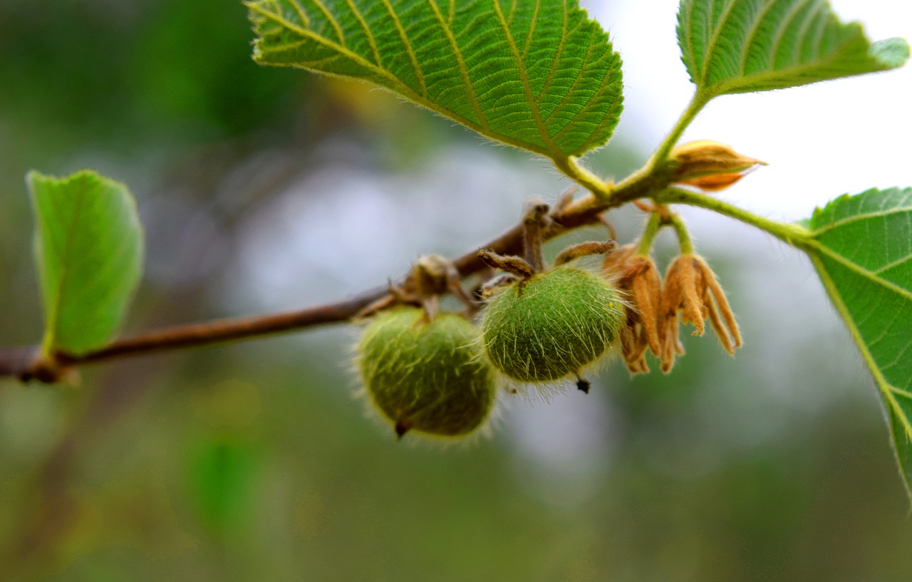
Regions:
[[679, 324], [691, 324], [695, 328], [693, 335], [701, 336], [707, 319], [722, 348], [734, 355], [735, 349], [741, 347], [741, 332], [716, 275], [699, 255], [679, 255], [668, 265], [662, 289], [659, 359], [663, 372], [671, 371], [675, 356], [684, 353]]

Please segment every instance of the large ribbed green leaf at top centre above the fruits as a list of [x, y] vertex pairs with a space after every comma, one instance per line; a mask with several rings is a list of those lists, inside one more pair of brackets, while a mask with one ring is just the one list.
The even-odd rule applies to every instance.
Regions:
[[553, 159], [606, 143], [620, 57], [577, 0], [258, 0], [254, 59], [399, 93]]

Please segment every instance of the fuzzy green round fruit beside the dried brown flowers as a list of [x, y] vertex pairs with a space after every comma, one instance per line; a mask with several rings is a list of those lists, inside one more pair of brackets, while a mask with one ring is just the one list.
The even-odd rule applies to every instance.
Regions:
[[596, 361], [623, 323], [617, 289], [561, 266], [503, 287], [485, 307], [482, 335], [488, 358], [505, 376], [547, 382]]

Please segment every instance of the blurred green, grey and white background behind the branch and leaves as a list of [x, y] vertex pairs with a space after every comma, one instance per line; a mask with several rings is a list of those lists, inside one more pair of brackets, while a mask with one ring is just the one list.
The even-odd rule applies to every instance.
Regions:
[[[872, 36], [909, 6], [834, 0]], [[689, 99], [674, 0], [584, 3], [625, 59], [623, 177]], [[0, 2], [0, 344], [40, 337], [23, 176], [130, 184], [147, 274], [125, 333], [351, 296], [461, 255], [567, 183], [358, 83], [259, 68], [230, 0]], [[912, 77], [722, 98], [688, 131], [772, 162], [723, 195], [794, 220], [912, 185]], [[668, 376], [501, 399], [491, 435], [396, 442], [355, 397], [353, 327], [0, 380], [0, 580], [908, 580], [876, 390], [809, 262], [684, 211], [745, 347]], [[612, 214], [619, 238], [641, 217]], [[550, 247], [602, 236], [575, 234]], [[666, 264], [672, 241], [660, 238]]]

